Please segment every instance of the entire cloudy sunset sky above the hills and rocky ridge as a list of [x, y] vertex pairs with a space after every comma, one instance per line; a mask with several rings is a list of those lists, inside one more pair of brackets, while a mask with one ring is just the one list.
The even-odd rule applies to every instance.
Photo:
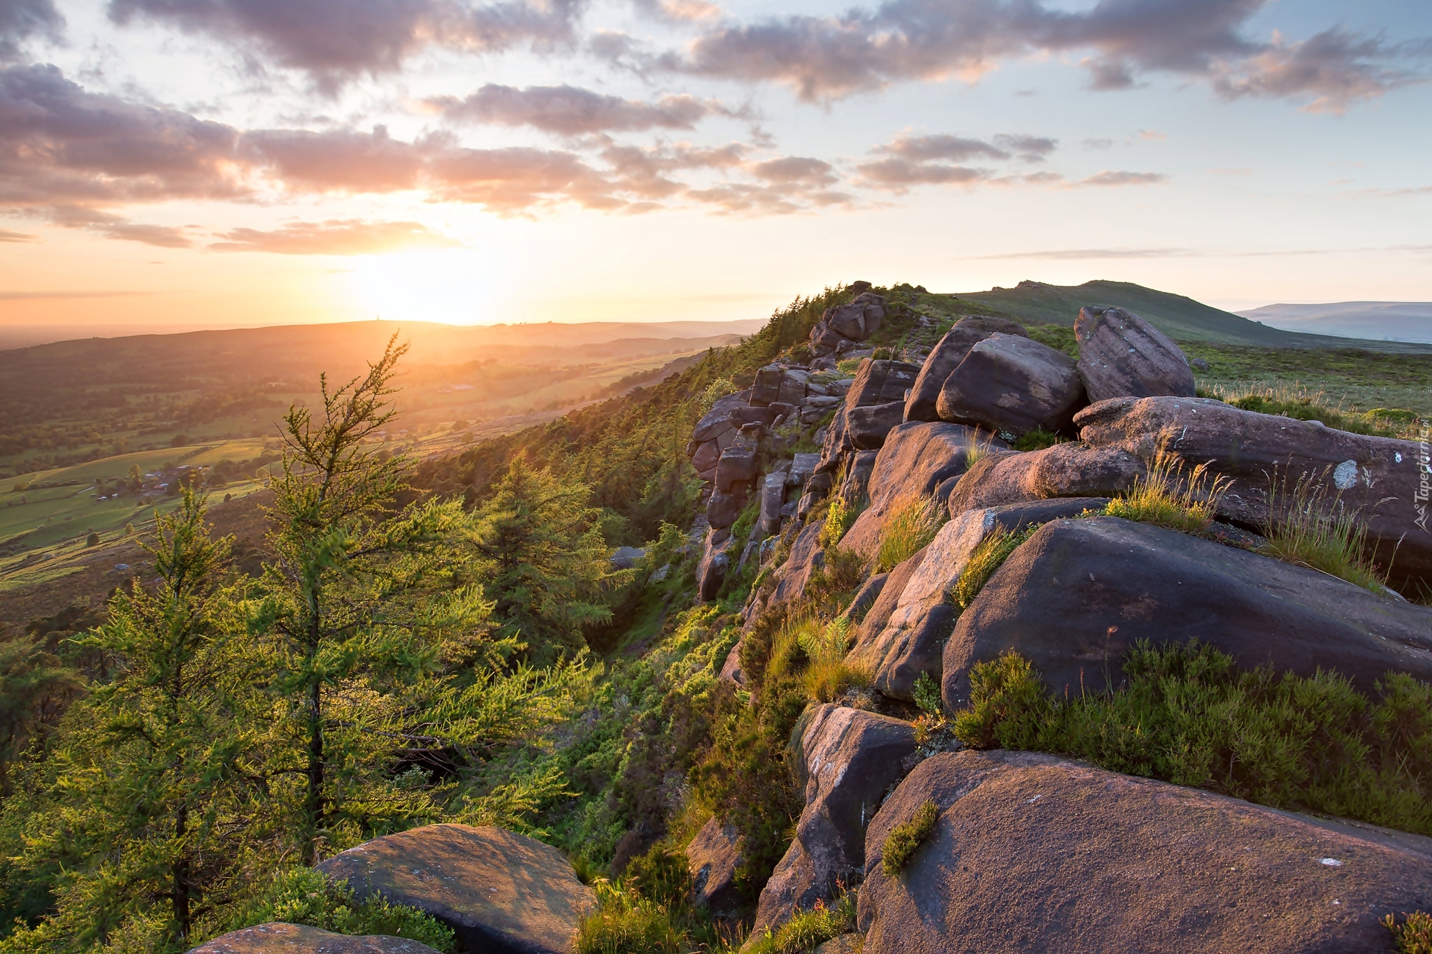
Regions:
[[0, 326], [1432, 300], [1426, 0], [0, 0]]

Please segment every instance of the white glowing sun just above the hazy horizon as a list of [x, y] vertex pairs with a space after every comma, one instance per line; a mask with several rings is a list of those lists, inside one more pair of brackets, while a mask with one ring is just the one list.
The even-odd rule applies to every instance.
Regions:
[[474, 249], [361, 256], [348, 285], [364, 315], [447, 325], [488, 325], [500, 318], [493, 313], [490, 263]]

